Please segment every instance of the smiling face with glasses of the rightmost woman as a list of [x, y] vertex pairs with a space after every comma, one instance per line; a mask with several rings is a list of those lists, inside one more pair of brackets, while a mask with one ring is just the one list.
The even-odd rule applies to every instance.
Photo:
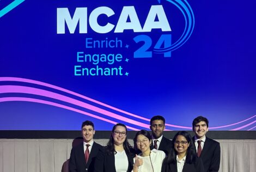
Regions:
[[190, 143], [187, 142], [187, 139], [182, 136], [178, 135], [174, 141], [174, 149], [178, 155], [186, 155], [187, 148], [190, 146]]

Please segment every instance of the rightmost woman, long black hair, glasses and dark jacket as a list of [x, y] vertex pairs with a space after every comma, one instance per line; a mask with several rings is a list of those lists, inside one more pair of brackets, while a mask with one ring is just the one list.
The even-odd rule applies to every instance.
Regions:
[[173, 138], [172, 150], [164, 159], [162, 172], [203, 172], [204, 165], [197, 157], [193, 140], [186, 131], [179, 131]]

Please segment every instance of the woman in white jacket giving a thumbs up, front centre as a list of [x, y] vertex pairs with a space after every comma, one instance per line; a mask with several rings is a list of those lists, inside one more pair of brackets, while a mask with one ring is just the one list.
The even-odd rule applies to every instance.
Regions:
[[133, 141], [135, 149], [141, 151], [134, 158], [133, 172], [160, 172], [166, 153], [156, 149], [150, 150], [152, 143], [150, 133], [146, 130], [138, 131]]

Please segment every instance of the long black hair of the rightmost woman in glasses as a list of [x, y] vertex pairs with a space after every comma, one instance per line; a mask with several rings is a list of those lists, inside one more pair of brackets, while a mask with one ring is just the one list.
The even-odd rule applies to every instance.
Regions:
[[187, 139], [187, 142], [190, 143], [190, 146], [188, 146], [188, 148], [187, 148], [186, 163], [191, 164], [196, 161], [197, 154], [196, 154], [196, 150], [194, 148], [194, 143], [193, 143], [193, 140], [192, 140], [190, 134], [186, 131], [179, 131], [173, 137], [172, 149], [171, 149], [170, 153], [168, 154], [168, 156], [164, 159], [163, 164], [176, 163], [177, 152], [174, 149], [174, 142], [179, 135], [184, 136]]

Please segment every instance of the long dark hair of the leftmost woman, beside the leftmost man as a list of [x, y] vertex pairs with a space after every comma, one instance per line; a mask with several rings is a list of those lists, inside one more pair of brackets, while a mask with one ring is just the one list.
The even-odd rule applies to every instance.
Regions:
[[[110, 138], [108, 140], [108, 143], [107, 143], [107, 153], [108, 153], [108, 155], [112, 155], [112, 154], [117, 153], [117, 151], [115, 151], [115, 148], [114, 148], [114, 138], [113, 138], [113, 134], [114, 134], [115, 128], [117, 128], [117, 126], [124, 127], [125, 132], [127, 133], [127, 127], [124, 124], [118, 123], [118, 124], [115, 124], [113, 126], [111, 136], [110, 136]], [[130, 150], [132, 149], [132, 146], [127, 141], [127, 138], [125, 138], [123, 145], [124, 145], [125, 152], [127, 154], [131, 155], [132, 153], [131, 153]]]

